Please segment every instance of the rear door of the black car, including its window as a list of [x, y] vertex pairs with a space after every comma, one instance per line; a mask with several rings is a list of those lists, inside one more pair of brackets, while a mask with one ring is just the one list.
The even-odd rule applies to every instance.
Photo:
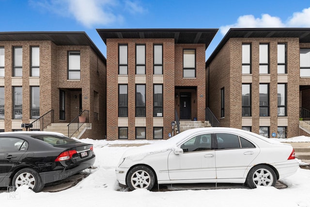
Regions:
[[0, 183], [8, 179], [12, 168], [28, 149], [28, 143], [19, 138], [0, 137]]

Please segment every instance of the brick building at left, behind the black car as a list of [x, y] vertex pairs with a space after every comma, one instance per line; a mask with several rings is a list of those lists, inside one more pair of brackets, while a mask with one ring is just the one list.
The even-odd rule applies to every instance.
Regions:
[[92, 130], [82, 137], [102, 139], [105, 103], [106, 58], [85, 32], [0, 32], [1, 131], [47, 112], [67, 125], [85, 110]]

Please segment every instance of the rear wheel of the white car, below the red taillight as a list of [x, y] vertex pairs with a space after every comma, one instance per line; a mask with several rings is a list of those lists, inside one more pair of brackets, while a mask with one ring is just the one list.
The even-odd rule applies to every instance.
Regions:
[[256, 186], [275, 186], [277, 176], [275, 171], [267, 165], [254, 166], [248, 173], [246, 183], [249, 188]]

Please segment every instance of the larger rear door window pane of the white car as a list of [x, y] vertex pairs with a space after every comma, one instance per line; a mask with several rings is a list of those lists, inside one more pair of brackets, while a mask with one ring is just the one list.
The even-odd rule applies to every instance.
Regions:
[[217, 133], [218, 149], [240, 148], [239, 137], [234, 134]]

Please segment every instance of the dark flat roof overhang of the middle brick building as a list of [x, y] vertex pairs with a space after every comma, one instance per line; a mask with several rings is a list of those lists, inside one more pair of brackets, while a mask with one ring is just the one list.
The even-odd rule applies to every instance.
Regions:
[[175, 44], [205, 44], [207, 48], [218, 29], [97, 29], [107, 39], [174, 39]]

